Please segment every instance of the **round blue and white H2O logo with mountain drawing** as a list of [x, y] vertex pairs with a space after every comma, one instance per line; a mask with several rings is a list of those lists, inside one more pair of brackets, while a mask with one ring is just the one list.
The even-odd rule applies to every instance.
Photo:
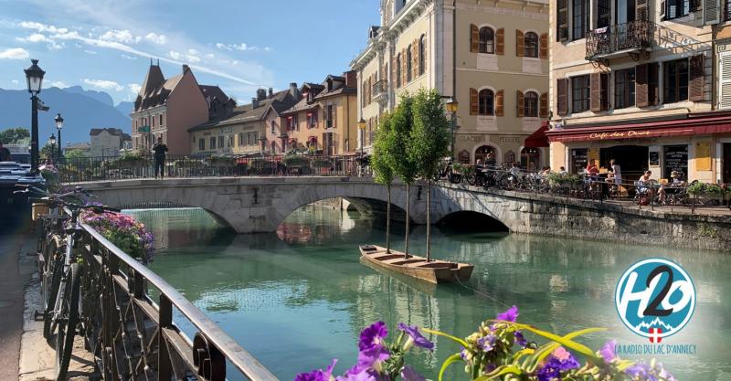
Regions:
[[690, 321], [695, 309], [693, 280], [668, 259], [643, 259], [622, 274], [614, 302], [634, 333], [660, 343]]

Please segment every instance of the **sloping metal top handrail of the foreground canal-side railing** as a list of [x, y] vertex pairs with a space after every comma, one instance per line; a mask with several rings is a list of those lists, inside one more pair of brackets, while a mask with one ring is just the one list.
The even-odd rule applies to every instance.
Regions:
[[[107, 238], [104, 238], [96, 229], [91, 228], [89, 225], [81, 224], [83, 228], [91, 238], [98, 241], [105, 249], [109, 250], [111, 255], [116, 259], [122, 260], [122, 262], [128, 266], [136, 277], [146, 280], [149, 284], [153, 285], [155, 289], [160, 291], [161, 296], [164, 296], [172, 305], [181, 312], [190, 323], [192, 323], [199, 330], [199, 333], [205, 336], [208, 342], [208, 346], [212, 344], [228, 361], [231, 365], [237, 368], [244, 376], [248, 377], [249, 380], [253, 381], [278, 381], [278, 379], [270, 373], [270, 371], [260, 364], [260, 362], [254, 358], [253, 355], [249, 354], [243, 347], [241, 347], [228, 333], [225, 333], [221, 328], [217, 326], [212, 320], [210, 320], [203, 312], [196, 308], [193, 303], [185, 299], [180, 292], [175, 290], [168, 282], [163, 280], [159, 275], [154, 273], [153, 270], [148, 269], [142, 263], [133, 259], [127, 253], [119, 249]], [[116, 274], [112, 274], [116, 275]], [[158, 306], [158, 311], [160, 307]], [[197, 339], [196, 339], [197, 340]], [[194, 344], [194, 351], [196, 346]], [[191, 354], [193, 355], [193, 354]]]

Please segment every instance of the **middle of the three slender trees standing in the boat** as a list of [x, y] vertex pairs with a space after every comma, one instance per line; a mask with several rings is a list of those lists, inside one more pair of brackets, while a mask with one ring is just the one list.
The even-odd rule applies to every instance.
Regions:
[[411, 219], [411, 185], [417, 178], [417, 165], [407, 154], [408, 141], [411, 139], [411, 128], [414, 118], [411, 113], [413, 97], [405, 92], [391, 115], [391, 129], [393, 131], [393, 152], [395, 153], [392, 167], [394, 173], [406, 185], [406, 240], [404, 243], [404, 258], [408, 258], [408, 225]]

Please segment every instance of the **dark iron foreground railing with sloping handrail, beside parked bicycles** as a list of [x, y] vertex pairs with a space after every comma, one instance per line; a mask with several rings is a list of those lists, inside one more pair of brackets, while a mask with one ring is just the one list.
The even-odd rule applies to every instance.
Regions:
[[[103, 379], [223, 381], [228, 369], [237, 374], [228, 379], [277, 381], [173, 286], [82, 227], [82, 331]], [[174, 309], [194, 327], [192, 339], [173, 321]]]

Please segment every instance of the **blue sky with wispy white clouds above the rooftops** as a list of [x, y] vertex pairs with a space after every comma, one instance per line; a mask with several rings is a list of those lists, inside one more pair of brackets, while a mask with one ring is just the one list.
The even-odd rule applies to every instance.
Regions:
[[150, 65], [185, 63], [239, 104], [257, 88], [342, 74], [379, 23], [378, 0], [0, 0], [0, 88], [25, 89], [30, 58], [44, 88], [80, 85], [133, 101]]

